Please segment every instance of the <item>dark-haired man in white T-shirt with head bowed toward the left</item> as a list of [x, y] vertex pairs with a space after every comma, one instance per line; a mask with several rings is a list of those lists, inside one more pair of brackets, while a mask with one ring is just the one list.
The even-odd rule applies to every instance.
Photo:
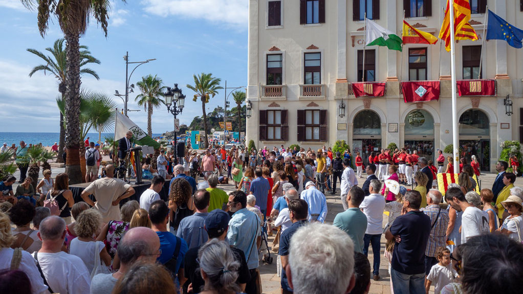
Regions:
[[483, 214], [481, 209], [467, 202], [461, 189], [450, 188], [447, 190], [445, 200], [452, 208], [463, 211], [461, 215], [461, 244], [474, 236], [490, 232], [488, 217]]

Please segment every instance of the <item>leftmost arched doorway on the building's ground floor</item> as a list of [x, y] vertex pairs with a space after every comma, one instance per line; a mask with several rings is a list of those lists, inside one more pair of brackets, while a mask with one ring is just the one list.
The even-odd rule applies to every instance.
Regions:
[[354, 117], [353, 156], [360, 152], [363, 163], [369, 163], [372, 151], [381, 149], [381, 119], [372, 110], [362, 110]]

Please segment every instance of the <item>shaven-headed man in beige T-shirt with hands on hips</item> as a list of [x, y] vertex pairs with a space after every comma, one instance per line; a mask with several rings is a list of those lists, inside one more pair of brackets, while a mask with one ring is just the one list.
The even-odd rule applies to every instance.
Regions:
[[[112, 164], [105, 166], [106, 177], [90, 183], [82, 192], [82, 199], [90, 206], [100, 211], [103, 221], [121, 220], [120, 201], [134, 194], [134, 189], [128, 183], [115, 178], [115, 167]], [[96, 202], [89, 198], [95, 196]]]

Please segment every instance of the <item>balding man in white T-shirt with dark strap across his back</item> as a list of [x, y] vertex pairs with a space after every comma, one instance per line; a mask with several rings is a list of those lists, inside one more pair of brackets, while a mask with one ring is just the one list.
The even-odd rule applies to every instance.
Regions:
[[82, 259], [62, 251], [65, 240], [65, 221], [50, 216], [40, 223], [38, 238], [42, 248], [33, 256], [40, 264], [43, 276], [53, 293], [87, 293], [90, 288], [90, 273]]

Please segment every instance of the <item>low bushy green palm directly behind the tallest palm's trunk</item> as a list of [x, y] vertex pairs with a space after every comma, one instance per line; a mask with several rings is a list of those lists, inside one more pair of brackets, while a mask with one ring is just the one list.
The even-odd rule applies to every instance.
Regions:
[[[56, 99], [61, 112], [65, 111], [65, 103], [62, 99]], [[94, 128], [98, 134], [109, 129], [115, 123], [116, 103], [106, 94], [82, 90], [80, 93], [80, 138], [83, 140], [87, 133]], [[79, 159], [81, 172], [85, 179], [85, 148], [80, 148]], [[82, 180], [83, 181], [83, 180]]]

